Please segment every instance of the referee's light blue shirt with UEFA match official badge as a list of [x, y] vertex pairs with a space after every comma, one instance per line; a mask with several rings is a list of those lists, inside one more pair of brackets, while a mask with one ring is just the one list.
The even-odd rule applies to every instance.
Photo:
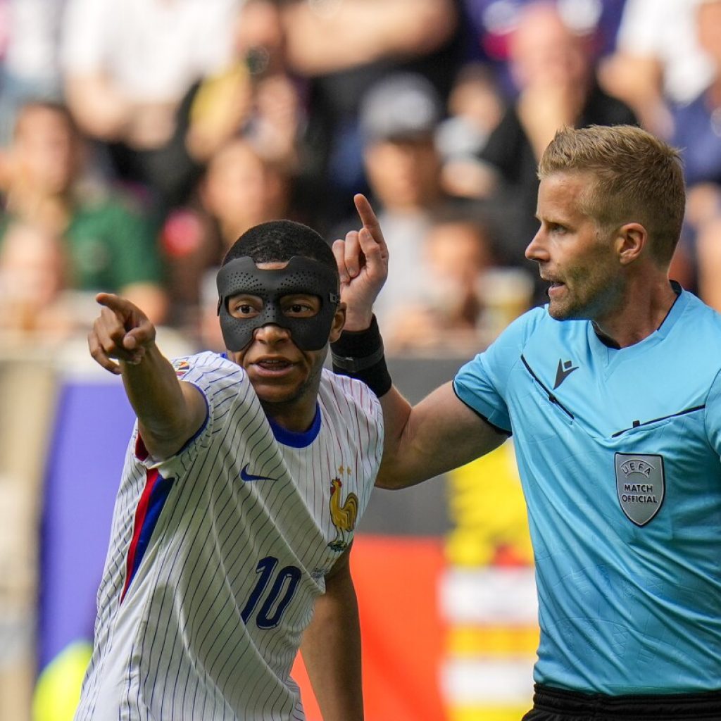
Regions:
[[454, 380], [513, 432], [541, 684], [721, 689], [721, 316], [676, 290], [661, 327], [629, 348], [538, 308]]

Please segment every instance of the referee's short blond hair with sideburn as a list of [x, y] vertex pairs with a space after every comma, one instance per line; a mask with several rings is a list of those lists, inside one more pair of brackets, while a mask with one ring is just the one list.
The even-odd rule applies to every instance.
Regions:
[[588, 173], [596, 181], [581, 210], [601, 226], [640, 223], [653, 255], [668, 264], [681, 235], [686, 190], [678, 150], [634, 125], [562, 128], [539, 163], [539, 178]]

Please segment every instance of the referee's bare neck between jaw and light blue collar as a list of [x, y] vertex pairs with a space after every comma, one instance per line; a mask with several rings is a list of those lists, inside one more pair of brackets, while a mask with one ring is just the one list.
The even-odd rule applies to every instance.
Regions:
[[678, 296], [668, 278], [640, 288], [630, 285], [618, 309], [593, 320], [596, 333], [610, 348], [628, 348], [656, 332]]

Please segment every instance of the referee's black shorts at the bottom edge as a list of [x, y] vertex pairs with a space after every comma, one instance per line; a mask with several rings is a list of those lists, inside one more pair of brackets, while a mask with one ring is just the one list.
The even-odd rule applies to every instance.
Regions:
[[703, 694], [606, 696], [536, 684], [522, 721], [721, 721], [721, 691]]

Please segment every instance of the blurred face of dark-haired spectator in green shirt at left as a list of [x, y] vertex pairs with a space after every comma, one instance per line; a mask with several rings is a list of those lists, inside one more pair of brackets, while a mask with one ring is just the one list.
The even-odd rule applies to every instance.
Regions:
[[14, 180], [48, 195], [63, 193], [76, 174], [79, 139], [62, 112], [41, 105], [20, 112], [12, 144]]

